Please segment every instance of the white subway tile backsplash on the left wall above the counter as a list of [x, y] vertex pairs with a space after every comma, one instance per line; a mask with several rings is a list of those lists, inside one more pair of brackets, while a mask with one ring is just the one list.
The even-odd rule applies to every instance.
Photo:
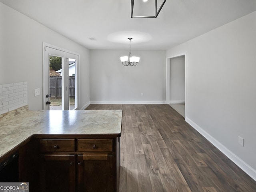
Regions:
[[0, 84], [0, 97], [4, 98], [0, 114], [10, 112], [28, 104], [28, 82]]

